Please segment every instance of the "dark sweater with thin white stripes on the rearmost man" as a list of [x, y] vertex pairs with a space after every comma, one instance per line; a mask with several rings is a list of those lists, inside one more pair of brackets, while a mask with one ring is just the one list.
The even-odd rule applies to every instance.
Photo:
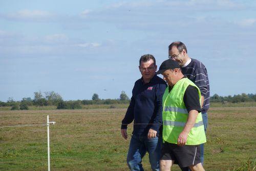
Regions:
[[193, 81], [204, 96], [202, 113], [206, 113], [210, 105], [210, 85], [207, 69], [204, 64], [196, 59], [189, 59], [182, 67], [182, 74]]

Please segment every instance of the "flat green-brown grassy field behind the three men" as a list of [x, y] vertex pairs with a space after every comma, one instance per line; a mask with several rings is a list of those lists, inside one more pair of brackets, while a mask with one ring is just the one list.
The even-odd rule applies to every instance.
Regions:
[[[42, 124], [49, 115], [50, 121], [56, 121], [50, 126], [52, 170], [128, 170], [130, 139], [120, 135], [125, 111], [3, 110], [0, 127]], [[249, 158], [256, 159], [256, 107], [212, 107], [208, 115], [206, 170], [233, 170]], [[132, 125], [129, 138], [131, 131]], [[143, 165], [151, 170], [147, 155]], [[0, 128], [0, 170], [47, 170], [47, 127]]]

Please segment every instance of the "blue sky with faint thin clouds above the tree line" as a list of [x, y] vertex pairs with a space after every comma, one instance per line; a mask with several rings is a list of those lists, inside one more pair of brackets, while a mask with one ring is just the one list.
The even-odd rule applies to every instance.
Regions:
[[256, 1], [0, 0], [0, 101], [131, 97], [140, 57], [160, 66], [173, 41], [206, 66], [211, 95], [256, 93]]

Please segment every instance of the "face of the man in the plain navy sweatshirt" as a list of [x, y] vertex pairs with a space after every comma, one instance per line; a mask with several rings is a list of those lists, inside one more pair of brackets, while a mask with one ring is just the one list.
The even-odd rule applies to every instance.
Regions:
[[149, 61], [141, 62], [139, 69], [143, 80], [149, 81], [155, 76], [157, 65], [155, 65], [154, 61], [150, 59]]

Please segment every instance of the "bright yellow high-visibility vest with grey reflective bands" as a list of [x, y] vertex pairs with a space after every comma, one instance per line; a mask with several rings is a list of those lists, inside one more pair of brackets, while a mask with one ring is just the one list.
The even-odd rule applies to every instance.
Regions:
[[[166, 142], [177, 144], [178, 137], [185, 127], [188, 111], [183, 102], [183, 96], [188, 85], [197, 88], [199, 101], [201, 101], [199, 88], [188, 78], [179, 80], [170, 92], [167, 87], [163, 94], [163, 140]], [[200, 112], [194, 127], [188, 133], [186, 145], [198, 145], [205, 142], [204, 124]]]

